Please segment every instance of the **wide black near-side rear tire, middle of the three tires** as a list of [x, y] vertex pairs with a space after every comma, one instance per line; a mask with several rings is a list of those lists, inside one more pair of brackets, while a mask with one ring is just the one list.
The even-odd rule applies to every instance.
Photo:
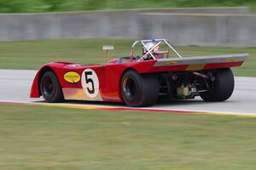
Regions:
[[154, 105], [159, 95], [159, 81], [154, 74], [126, 71], [121, 81], [121, 94], [126, 105], [142, 107]]

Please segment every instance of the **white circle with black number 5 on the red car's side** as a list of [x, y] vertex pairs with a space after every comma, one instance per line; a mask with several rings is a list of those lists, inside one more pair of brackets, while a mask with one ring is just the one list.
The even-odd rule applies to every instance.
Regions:
[[84, 93], [90, 98], [95, 98], [99, 94], [99, 79], [95, 71], [91, 69], [85, 69], [83, 71], [82, 87]]

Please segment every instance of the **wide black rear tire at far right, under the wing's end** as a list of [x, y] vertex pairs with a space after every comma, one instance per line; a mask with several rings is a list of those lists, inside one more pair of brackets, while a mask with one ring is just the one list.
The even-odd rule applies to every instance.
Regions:
[[201, 99], [207, 102], [218, 102], [229, 99], [233, 94], [235, 81], [230, 68], [218, 69], [212, 71], [215, 80], [212, 83], [212, 89], [200, 94]]

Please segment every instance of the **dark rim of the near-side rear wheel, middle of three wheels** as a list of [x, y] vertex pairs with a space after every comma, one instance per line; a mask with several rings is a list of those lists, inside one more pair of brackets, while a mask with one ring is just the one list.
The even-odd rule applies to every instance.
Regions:
[[137, 92], [137, 86], [132, 77], [125, 77], [123, 82], [123, 92], [126, 99], [134, 99]]

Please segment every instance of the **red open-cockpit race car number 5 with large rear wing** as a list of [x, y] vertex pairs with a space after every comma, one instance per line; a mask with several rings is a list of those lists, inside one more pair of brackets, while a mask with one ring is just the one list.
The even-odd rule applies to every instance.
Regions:
[[[135, 56], [138, 45], [143, 50]], [[161, 97], [172, 100], [201, 96], [205, 101], [224, 101], [234, 90], [230, 67], [242, 65], [247, 56], [182, 57], [166, 39], [140, 40], [132, 44], [130, 56], [107, 63], [43, 65], [32, 83], [31, 97], [42, 95], [50, 103], [93, 100], [125, 102], [129, 106], [154, 105]]]

